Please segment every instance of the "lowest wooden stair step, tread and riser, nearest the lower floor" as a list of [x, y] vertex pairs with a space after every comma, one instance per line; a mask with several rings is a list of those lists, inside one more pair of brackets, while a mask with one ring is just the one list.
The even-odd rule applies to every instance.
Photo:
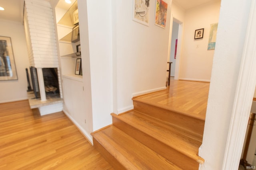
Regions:
[[115, 169], [181, 170], [113, 125], [92, 133], [92, 136], [94, 146]]

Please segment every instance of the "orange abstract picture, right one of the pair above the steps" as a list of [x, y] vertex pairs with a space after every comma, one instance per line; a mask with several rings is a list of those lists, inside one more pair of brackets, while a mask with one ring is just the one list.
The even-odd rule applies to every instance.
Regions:
[[165, 28], [168, 4], [163, 0], [156, 0], [155, 24]]

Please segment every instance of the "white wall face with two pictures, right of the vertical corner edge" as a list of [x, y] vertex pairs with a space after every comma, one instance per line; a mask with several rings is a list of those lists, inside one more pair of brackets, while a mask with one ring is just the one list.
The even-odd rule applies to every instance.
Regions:
[[168, 59], [171, 1], [166, 28], [154, 25], [150, 1], [149, 27], [132, 20], [132, 1], [116, 1], [116, 72], [118, 113], [133, 108], [132, 96], [164, 89]]

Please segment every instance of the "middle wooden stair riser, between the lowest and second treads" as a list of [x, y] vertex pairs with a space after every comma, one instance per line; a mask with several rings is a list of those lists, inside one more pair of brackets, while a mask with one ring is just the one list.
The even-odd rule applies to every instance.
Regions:
[[112, 117], [112, 121], [114, 126], [118, 127], [120, 130], [124, 131], [134, 139], [140, 141], [140, 143], [143, 143], [145, 146], [162, 155], [170, 162], [180, 166], [180, 168], [187, 170], [198, 170], [199, 163], [196, 162], [196, 160], [193, 160], [192, 158], [178, 152], [176, 149], [170, 148], [154, 137], [143, 133], [140, 131], [140, 129], [136, 129], [135, 127], [121, 121], [116, 117]]

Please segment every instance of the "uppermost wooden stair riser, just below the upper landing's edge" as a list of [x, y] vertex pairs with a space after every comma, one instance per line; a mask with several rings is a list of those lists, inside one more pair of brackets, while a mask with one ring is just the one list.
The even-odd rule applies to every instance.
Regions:
[[166, 123], [172, 123], [180, 127], [189, 129], [203, 135], [204, 133], [204, 121], [196, 119], [194, 117], [189, 117], [180, 113], [175, 113], [170, 110], [166, 110], [160, 107], [144, 104], [142, 102], [133, 101], [134, 110], [164, 121]]

